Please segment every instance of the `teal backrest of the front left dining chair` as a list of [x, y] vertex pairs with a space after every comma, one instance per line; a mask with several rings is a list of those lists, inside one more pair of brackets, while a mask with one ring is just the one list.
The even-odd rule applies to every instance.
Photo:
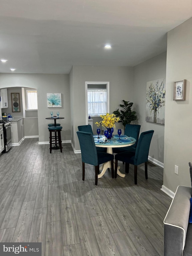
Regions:
[[82, 162], [97, 166], [98, 157], [93, 134], [90, 132], [77, 131], [77, 136], [81, 148]]

